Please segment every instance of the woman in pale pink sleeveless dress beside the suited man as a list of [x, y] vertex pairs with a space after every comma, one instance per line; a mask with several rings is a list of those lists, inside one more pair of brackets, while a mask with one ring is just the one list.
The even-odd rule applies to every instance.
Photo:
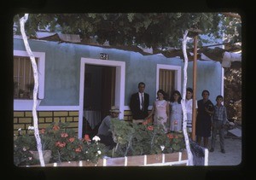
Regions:
[[[166, 93], [164, 90], [157, 91], [157, 99], [153, 104], [151, 113], [148, 118], [154, 115], [154, 125], [162, 125], [166, 133], [170, 129], [169, 117], [169, 103], [165, 100]], [[147, 119], [148, 119], [147, 118]]]

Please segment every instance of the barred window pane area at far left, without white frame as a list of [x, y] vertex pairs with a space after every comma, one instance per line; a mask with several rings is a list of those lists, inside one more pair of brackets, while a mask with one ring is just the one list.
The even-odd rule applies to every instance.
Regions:
[[[38, 58], [36, 58], [38, 64]], [[29, 57], [14, 57], [14, 97], [15, 99], [32, 99], [34, 78]]]

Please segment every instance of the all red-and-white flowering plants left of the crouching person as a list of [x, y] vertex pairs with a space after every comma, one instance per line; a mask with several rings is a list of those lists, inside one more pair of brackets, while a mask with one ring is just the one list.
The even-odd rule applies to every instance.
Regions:
[[[92, 140], [88, 135], [79, 139], [75, 131], [68, 129], [68, 123], [52, 123], [40, 130], [40, 137], [42, 149], [51, 150], [50, 163], [73, 160], [87, 160], [96, 163], [107, 149], [104, 144], [99, 143], [100, 138], [98, 136], [94, 136]], [[39, 164], [38, 160], [32, 158], [31, 150], [37, 150], [34, 136], [30, 134], [15, 136], [15, 165]]]

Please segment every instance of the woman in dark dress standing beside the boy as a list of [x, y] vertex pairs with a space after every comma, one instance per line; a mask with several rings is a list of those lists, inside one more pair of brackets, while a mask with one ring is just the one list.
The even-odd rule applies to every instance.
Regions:
[[196, 142], [201, 145], [203, 137], [204, 148], [208, 146], [208, 137], [211, 136], [211, 116], [214, 112], [213, 103], [209, 100], [210, 93], [208, 90], [203, 90], [203, 97], [197, 102], [197, 117], [195, 122]]

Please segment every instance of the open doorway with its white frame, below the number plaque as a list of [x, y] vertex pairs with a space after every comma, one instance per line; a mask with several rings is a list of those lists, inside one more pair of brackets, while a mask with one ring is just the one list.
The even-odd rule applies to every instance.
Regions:
[[96, 116], [97, 120], [90, 121], [95, 128], [108, 115], [111, 106], [119, 106], [119, 119], [124, 119], [125, 61], [81, 58], [79, 87], [79, 137], [84, 136], [84, 126], [89, 123], [84, 120], [86, 115], [88, 119], [90, 115]]

